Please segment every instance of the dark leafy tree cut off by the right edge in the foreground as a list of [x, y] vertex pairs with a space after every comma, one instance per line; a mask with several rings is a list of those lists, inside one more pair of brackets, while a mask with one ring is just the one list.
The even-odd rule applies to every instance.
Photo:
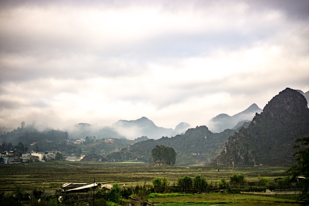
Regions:
[[293, 177], [304, 176], [306, 179], [299, 183], [303, 187], [300, 200], [303, 200], [304, 205], [309, 205], [309, 137], [299, 138], [295, 141], [297, 144], [294, 148], [299, 148], [293, 154], [298, 165], [292, 166], [288, 172], [293, 174]]

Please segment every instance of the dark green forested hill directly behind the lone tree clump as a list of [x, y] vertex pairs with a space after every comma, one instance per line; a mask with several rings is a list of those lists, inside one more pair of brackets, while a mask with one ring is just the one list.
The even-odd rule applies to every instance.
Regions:
[[[177, 164], [207, 163], [208, 159], [214, 159], [220, 154], [228, 137], [238, 131], [239, 128], [213, 133], [206, 126], [199, 126], [190, 128], [184, 134], [175, 137], [162, 137], [158, 140], [150, 139], [138, 142], [130, 146], [130, 152], [138, 154], [138, 156], [144, 155], [145, 159], [151, 158], [151, 149], [156, 145], [164, 145], [175, 149], [178, 154]], [[181, 163], [181, 161], [184, 162]]]

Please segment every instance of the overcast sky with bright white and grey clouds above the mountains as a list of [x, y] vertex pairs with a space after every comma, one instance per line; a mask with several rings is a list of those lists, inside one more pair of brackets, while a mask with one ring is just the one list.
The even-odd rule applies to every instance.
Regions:
[[309, 1], [0, 1], [0, 127], [192, 127], [309, 90]]

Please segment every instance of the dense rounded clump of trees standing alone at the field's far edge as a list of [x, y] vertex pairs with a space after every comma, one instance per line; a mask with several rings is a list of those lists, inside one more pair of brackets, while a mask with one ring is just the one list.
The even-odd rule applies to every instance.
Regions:
[[172, 147], [166, 147], [164, 145], [156, 145], [151, 150], [153, 160], [164, 161], [167, 165], [174, 165], [176, 162], [176, 152]]

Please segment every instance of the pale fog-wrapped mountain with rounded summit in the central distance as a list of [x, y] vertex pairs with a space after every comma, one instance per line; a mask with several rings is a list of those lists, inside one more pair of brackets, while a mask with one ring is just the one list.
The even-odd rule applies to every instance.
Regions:
[[150, 139], [158, 139], [162, 136], [170, 135], [173, 132], [172, 128], [158, 127], [155, 123], [146, 117], [137, 120], [118, 120], [112, 125], [121, 135], [135, 139], [141, 136], [147, 136]]

